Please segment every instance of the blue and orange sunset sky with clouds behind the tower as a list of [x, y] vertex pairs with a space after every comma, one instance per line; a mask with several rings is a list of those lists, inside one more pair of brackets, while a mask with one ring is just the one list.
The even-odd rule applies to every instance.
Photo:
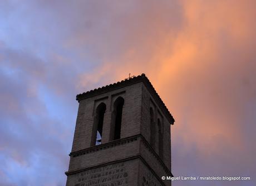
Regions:
[[255, 1], [0, 1], [0, 185], [65, 185], [77, 94], [145, 73], [175, 176], [256, 184]]

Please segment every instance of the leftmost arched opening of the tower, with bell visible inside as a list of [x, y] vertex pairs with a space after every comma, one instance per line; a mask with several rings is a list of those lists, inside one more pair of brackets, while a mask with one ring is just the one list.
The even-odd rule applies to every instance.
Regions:
[[95, 118], [94, 118], [94, 123], [93, 123], [93, 129], [92, 129], [91, 146], [101, 144], [102, 128], [103, 128], [105, 111], [106, 111], [106, 104], [104, 104], [102, 102], [96, 108]]

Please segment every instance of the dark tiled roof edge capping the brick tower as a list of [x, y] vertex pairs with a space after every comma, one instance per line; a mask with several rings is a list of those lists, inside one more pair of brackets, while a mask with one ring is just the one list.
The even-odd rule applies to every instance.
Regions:
[[152, 86], [149, 79], [147, 79], [145, 74], [141, 74], [138, 76], [131, 77], [130, 79], [125, 79], [122, 81], [115, 82], [114, 84], [106, 85], [99, 87], [98, 89], [90, 90], [87, 92], [83, 92], [82, 94], [78, 94], [76, 96], [76, 100], [80, 102], [83, 99], [86, 99], [87, 97], [92, 97], [98, 94], [102, 94], [111, 90], [120, 89], [121, 87], [135, 84], [137, 82], [144, 82], [144, 85], [147, 87], [147, 89], [151, 92], [151, 95], [154, 97], [155, 101], [161, 108], [161, 110], [164, 112], [165, 116], [168, 118], [169, 122], [173, 125], [174, 118], [169, 112], [168, 108], [165, 106], [164, 102], [161, 100], [160, 96], [157, 94], [156, 90]]

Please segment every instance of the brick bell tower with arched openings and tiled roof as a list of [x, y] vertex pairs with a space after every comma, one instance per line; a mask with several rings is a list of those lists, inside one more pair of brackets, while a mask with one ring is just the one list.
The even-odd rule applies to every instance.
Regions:
[[171, 185], [174, 118], [145, 74], [84, 92], [66, 186]]

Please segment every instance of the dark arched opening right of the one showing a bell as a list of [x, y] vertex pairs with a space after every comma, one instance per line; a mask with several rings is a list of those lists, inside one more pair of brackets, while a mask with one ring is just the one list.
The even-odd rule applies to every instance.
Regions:
[[114, 133], [112, 139], [120, 139], [121, 123], [122, 123], [122, 107], [124, 106], [124, 98], [118, 97], [114, 102], [114, 110], [112, 117], [114, 118]]

